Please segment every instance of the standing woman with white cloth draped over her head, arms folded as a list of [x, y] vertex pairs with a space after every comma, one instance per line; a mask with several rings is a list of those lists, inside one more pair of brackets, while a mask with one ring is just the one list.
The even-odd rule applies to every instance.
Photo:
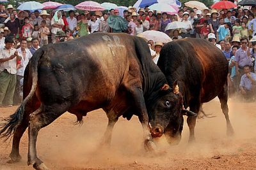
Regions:
[[54, 13], [54, 16], [52, 17], [52, 20], [51, 20], [51, 26], [52, 26], [52, 30], [51, 30], [51, 32], [52, 32], [52, 43], [56, 43], [57, 31], [61, 31], [62, 27], [64, 26], [64, 22], [62, 20], [60, 11], [56, 11]]

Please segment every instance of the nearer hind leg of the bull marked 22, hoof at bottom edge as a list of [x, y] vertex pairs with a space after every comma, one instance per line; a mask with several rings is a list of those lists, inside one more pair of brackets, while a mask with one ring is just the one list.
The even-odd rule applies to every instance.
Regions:
[[[67, 105], [54, 104], [52, 106], [43, 106], [42, 112], [38, 113], [38, 110], [31, 113], [32, 117], [29, 121], [28, 134], [29, 134], [29, 146], [28, 146], [28, 165], [33, 165], [35, 169], [47, 169], [42, 160], [38, 159], [36, 155], [36, 139], [38, 132], [41, 128], [51, 124], [56, 118], [60, 117], [65, 111], [67, 111]], [[35, 114], [36, 113], [36, 114]]]

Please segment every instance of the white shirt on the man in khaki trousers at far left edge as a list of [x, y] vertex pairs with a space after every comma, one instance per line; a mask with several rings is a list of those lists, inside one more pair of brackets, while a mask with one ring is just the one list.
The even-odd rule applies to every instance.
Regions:
[[[6, 59], [6, 58], [10, 57], [11, 55], [14, 55], [15, 51], [16, 51], [15, 48], [11, 48], [10, 52], [9, 52], [4, 47], [3, 49], [0, 50], [0, 59]], [[16, 59], [16, 57], [14, 57], [12, 60], [8, 60], [6, 62], [1, 62], [0, 63], [0, 71], [4, 71], [4, 69], [6, 69], [8, 71], [8, 73], [16, 74], [17, 73], [16, 66], [17, 66], [17, 59]]]

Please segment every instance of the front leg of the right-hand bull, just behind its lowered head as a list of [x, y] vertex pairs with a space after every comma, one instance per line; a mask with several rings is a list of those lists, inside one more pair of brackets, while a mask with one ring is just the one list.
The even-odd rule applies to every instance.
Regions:
[[[194, 113], [198, 113], [200, 110], [200, 102], [197, 101], [194, 104], [189, 105], [189, 110]], [[196, 117], [188, 117], [187, 119], [188, 127], [189, 127], [189, 142], [195, 141], [195, 125], [196, 125]]]

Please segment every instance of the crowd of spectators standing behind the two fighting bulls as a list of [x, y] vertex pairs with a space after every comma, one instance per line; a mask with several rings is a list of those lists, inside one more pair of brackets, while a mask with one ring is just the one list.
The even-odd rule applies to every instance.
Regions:
[[[230, 92], [252, 97], [256, 71], [256, 9], [198, 10], [184, 6], [175, 15], [130, 7], [120, 14], [109, 11], [22, 11], [12, 4], [0, 4], [0, 106], [13, 106], [22, 100], [24, 70], [40, 46], [59, 43], [94, 32], [161, 31], [173, 40], [186, 37], [211, 41], [223, 51], [230, 72]], [[186, 29], [165, 31], [171, 22], [184, 22]], [[157, 63], [162, 42], [148, 41], [152, 59]], [[251, 95], [251, 96], [250, 96]]]

